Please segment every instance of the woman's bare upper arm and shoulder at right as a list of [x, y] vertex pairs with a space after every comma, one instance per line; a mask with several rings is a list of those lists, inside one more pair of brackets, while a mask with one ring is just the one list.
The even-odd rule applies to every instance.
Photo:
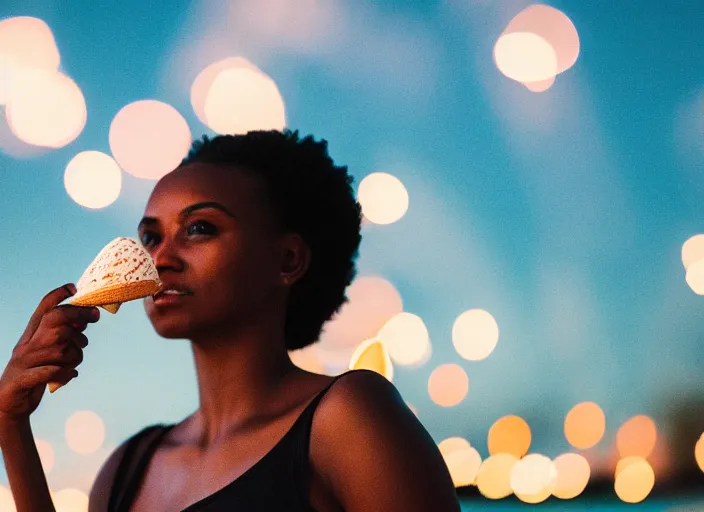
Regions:
[[460, 510], [437, 445], [393, 384], [375, 372], [350, 372], [323, 397], [311, 460], [349, 512]]

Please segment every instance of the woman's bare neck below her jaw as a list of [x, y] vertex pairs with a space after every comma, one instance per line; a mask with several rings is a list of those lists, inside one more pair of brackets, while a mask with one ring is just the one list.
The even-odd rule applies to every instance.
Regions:
[[272, 323], [269, 319], [240, 326], [235, 333], [191, 340], [200, 402], [192, 426], [201, 445], [261, 416], [296, 373], [283, 325]]

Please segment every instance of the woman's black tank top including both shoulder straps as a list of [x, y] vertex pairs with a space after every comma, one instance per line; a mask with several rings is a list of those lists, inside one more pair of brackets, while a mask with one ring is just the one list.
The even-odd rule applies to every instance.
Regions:
[[[352, 370], [366, 371], [366, 370]], [[306, 406], [289, 431], [254, 466], [210, 496], [181, 512], [310, 512], [309, 441], [313, 413], [336, 376]], [[128, 512], [160, 441], [174, 425], [151, 425], [132, 436], [117, 468], [108, 512]]]

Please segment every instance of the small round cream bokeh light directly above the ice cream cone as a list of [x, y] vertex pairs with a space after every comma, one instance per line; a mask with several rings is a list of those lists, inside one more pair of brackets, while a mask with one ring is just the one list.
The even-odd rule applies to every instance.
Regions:
[[111, 156], [100, 151], [83, 151], [66, 166], [64, 187], [81, 206], [105, 208], [120, 195], [122, 171]]

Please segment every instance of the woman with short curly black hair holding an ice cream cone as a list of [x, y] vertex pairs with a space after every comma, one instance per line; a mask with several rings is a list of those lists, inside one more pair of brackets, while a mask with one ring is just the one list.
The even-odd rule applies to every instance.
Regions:
[[[351, 182], [325, 141], [290, 131], [204, 137], [159, 180], [138, 233], [171, 292], [144, 304], [159, 335], [190, 341], [199, 406], [122, 443], [91, 512], [459, 510], [435, 443], [391, 383], [310, 373], [288, 356], [318, 339], [354, 277]], [[19, 512], [51, 510], [28, 417], [47, 382], [75, 378], [97, 320], [96, 308], [56, 307], [67, 288], [42, 301], [0, 379]]]

